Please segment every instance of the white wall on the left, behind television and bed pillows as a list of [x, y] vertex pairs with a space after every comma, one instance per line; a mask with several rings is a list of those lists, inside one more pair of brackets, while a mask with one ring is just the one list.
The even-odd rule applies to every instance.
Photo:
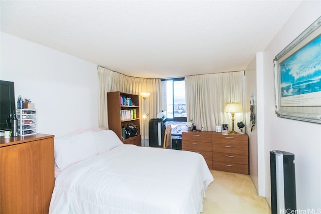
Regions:
[[98, 126], [97, 65], [1, 32], [1, 80], [37, 108], [38, 133]]

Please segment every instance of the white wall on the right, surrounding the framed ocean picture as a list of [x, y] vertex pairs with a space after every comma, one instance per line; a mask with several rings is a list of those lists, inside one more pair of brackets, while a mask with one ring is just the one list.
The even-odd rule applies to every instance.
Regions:
[[263, 53], [264, 58], [264, 143], [266, 198], [271, 203], [269, 151], [283, 150], [295, 154], [297, 209], [321, 208], [321, 124], [279, 118], [275, 114], [273, 59], [321, 15], [321, 1], [303, 1]]

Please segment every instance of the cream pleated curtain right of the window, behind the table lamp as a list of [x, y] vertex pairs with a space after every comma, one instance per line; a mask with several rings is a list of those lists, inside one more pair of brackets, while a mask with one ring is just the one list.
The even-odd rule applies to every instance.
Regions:
[[[197, 129], [215, 131], [216, 125], [222, 123], [228, 123], [231, 129], [231, 114], [223, 111], [226, 103], [240, 103], [243, 107], [244, 71], [188, 76], [185, 90], [187, 120], [193, 119]], [[244, 114], [236, 113], [234, 118], [236, 130]]]

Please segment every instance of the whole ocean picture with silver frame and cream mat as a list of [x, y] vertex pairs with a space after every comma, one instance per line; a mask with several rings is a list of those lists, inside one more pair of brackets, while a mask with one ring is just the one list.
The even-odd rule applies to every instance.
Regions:
[[321, 123], [321, 17], [274, 59], [275, 113]]

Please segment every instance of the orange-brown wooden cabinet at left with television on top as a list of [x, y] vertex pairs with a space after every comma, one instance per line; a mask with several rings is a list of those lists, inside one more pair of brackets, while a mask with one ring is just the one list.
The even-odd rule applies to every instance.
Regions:
[[48, 213], [54, 135], [0, 137], [0, 213]]

